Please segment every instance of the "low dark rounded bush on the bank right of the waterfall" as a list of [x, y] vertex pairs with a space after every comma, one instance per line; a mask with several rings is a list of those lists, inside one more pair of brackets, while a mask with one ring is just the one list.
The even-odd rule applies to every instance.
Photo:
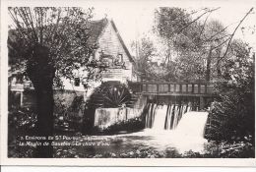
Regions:
[[254, 95], [224, 95], [209, 114], [206, 138], [215, 141], [243, 141], [254, 137]]

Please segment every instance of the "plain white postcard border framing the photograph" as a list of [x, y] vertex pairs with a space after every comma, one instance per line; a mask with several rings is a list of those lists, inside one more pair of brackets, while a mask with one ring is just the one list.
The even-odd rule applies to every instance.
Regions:
[[[125, 1], [125, 0], [124, 0]], [[1, 165], [57, 165], [57, 166], [256, 166], [255, 158], [8, 158], [7, 157], [7, 127], [8, 127], [8, 52], [7, 52], [7, 21], [5, 16], [8, 14], [8, 6], [84, 6], [99, 5], [120, 5], [124, 1], [116, 0], [88, 0], [88, 1], [25, 1], [15, 0], [1, 2]], [[138, 5], [157, 5], [157, 6], [222, 6], [222, 5], [241, 5], [238, 1], [137, 1]], [[126, 1], [137, 3], [136, 1]], [[243, 3], [246, 3], [243, 1]], [[221, 4], [221, 5], [220, 5]], [[252, 4], [248, 1], [247, 4]]]

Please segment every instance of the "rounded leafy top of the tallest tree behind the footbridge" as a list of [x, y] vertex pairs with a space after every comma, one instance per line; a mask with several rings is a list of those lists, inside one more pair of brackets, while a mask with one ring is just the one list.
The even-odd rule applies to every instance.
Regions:
[[160, 8], [156, 11], [156, 23], [155, 30], [168, 46], [189, 50], [201, 45], [202, 26], [184, 9]]

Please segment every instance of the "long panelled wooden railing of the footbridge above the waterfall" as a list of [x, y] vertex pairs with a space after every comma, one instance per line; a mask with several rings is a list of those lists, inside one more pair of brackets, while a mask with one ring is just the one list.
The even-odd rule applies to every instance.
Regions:
[[135, 92], [149, 94], [213, 94], [213, 83], [133, 83]]

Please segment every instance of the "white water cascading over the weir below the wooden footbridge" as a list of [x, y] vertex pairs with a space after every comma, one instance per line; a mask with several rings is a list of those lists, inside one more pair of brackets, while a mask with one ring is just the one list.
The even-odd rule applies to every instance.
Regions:
[[208, 112], [191, 110], [189, 104], [150, 104], [146, 116], [146, 128], [151, 130], [145, 130], [143, 135], [154, 136], [159, 146], [172, 145], [179, 152], [190, 149], [203, 151], [204, 143], [207, 143], [204, 139], [204, 129]]

